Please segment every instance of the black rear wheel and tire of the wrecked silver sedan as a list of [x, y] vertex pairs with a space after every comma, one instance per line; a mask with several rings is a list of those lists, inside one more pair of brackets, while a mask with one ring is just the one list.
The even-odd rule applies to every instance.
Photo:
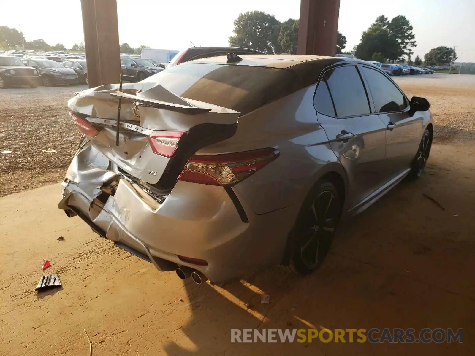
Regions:
[[317, 182], [300, 209], [289, 235], [285, 269], [297, 274], [310, 274], [322, 264], [330, 250], [342, 213], [342, 200], [335, 185], [327, 180]]

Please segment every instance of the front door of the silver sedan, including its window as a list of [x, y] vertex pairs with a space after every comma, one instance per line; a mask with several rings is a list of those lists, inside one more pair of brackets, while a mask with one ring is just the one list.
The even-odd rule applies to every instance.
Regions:
[[386, 126], [386, 169], [394, 178], [409, 169], [424, 131], [421, 112], [412, 113], [409, 100], [386, 75], [361, 66], [375, 111]]

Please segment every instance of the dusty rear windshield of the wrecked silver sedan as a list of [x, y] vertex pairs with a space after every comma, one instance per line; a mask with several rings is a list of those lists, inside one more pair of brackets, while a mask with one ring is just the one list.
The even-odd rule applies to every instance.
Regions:
[[290, 70], [268, 67], [183, 63], [143, 82], [243, 115], [291, 94], [295, 76]]

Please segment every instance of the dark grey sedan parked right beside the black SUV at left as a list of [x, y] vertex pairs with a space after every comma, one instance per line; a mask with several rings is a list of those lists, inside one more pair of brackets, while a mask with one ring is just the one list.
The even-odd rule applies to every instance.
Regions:
[[56, 61], [41, 58], [28, 58], [28, 66], [38, 69], [44, 86], [57, 84], [77, 84], [77, 74]]

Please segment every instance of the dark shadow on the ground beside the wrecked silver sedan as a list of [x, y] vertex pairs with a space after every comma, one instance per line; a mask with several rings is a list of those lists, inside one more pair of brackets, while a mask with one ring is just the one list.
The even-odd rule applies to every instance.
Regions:
[[273, 267], [223, 288], [186, 281], [192, 319], [181, 328], [186, 337], [170, 336], [167, 355], [474, 355], [467, 343], [374, 345], [348, 336], [346, 343], [231, 343], [231, 328], [464, 328], [468, 337], [475, 191], [464, 168], [440, 163], [342, 225], [309, 276]]

